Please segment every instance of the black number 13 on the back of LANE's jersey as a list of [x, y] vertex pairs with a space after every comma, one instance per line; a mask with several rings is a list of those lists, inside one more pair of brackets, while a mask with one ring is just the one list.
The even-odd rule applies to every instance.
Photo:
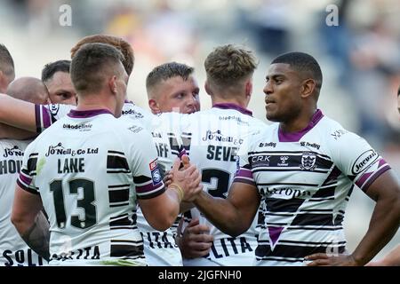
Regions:
[[[94, 183], [89, 179], [76, 178], [68, 182], [68, 195], [78, 194], [78, 188], [82, 188], [84, 197], [76, 201], [76, 207], [84, 209], [84, 219], [77, 215], [71, 216], [71, 225], [79, 229], [86, 229], [97, 222], [96, 206], [94, 203]], [[65, 228], [67, 215], [65, 213], [64, 193], [62, 180], [55, 179], [50, 184], [50, 191], [54, 201], [55, 215], [59, 228]]]

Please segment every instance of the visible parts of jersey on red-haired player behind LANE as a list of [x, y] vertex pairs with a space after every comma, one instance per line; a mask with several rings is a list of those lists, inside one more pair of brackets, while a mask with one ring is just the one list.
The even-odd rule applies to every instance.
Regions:
[[[37, 132], [48, 128], [53, 122], [68, 114], [76, 106], [67, 105], [36, 105], [36, 129]], [[153, 140], [158, 154], [160, 170], [171, 170], [172, 162], [179, 153], [173, 131], [169, 127], [168, 120], [160, 120], [157, 115], [150, 114], [147, 110], [136, 106], [131, 101], [125, 101], [122, 117], [126, 117], [134, 123], [140, 123], [152, 132]], [[168, 130], [168, 131], [167, 131]], [[137, 224], [143, 235], [143, 246], [145, 256], [149, 265], [182, 265], [180, 249], [175, 244], [175, 231], [168, 229], [159, 232], [148, 225], [140, 208], [137, 211]]]

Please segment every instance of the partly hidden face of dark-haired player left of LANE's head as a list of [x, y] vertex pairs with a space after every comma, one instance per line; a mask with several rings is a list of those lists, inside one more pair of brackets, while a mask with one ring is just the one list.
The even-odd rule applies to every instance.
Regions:
[[68, 73], [56, 72], [44, 84], [53, 104], [76, 105], [76, 91]]

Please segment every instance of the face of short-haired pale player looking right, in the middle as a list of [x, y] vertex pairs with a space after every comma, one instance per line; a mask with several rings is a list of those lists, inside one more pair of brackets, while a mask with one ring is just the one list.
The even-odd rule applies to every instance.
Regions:
[[193, 76], [186, 81], [180, 76], [165, 80], [156, 87], [156, 92], [156, 103], [162, 113], [192, 114], [200, 110], [199, 88]]

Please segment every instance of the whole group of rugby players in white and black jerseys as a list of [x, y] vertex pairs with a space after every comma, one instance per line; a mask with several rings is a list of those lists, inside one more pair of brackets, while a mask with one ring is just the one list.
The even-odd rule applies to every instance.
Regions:
[[[396, 175], [317, 108], [307, 53], [271, 62], [271, 125], [247, 108], [257, 59], [232, 44], [204, 60], [208, 110], [177, 62], [148, 74], [151, 112], [129, 101], [121, 38], [84, 37], [71, 59], [14, 81], [0, 46], [0, 265], [364, 265], [396, 233]], [[355, 185], [376, 206], [350, 252]]]

